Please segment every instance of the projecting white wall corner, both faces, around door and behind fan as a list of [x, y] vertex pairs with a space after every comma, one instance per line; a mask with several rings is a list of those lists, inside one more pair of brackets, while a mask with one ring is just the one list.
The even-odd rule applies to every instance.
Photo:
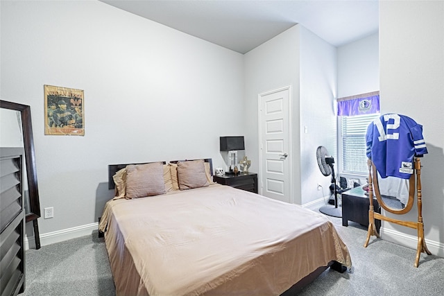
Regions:
[[[258, 46], [245, 55], [247, 134], [254, 139], [252, 171], [259, 162], [258, 94], [291, 85], [291, 186], [297, 204], [322, 199], [321, 182], [328, 189], [316, 162], [316, 148], [328, 146], [336, 153], [336, 121], [333, 99], [336, 94], [336, 49], [301, 25]], [[307, 134], [304, 133], [307, 127]], [[254, 165], [254, 166], [253, 166]], [[330, 191], [325, 191], [325, 193]]]

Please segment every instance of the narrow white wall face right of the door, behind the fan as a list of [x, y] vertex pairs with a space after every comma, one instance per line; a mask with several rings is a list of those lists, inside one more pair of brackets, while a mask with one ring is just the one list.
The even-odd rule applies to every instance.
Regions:
[[[301, 26], [300, 29], [300, 179], [301, 204], [330, 195], [332, 178], [316, 159], [318, 146], [336, 157], [336, 48]], [[337, 170], [335, 170], [337, 171]], [[318, 191], [322, 184], [323, 191]]]

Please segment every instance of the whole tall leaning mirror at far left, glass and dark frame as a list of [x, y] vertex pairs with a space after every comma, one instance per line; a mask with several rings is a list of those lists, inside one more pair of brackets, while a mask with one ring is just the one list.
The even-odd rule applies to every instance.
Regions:
[[40, 217], [40, 201], [35, 168], [33, 128], [31, 125], [31, 107], [8, 101], [0, 101], [1, 133], [0, 146], [19, 146], [24, 148], [24, 209], [26, 222], [35, 221], [34, 232], [36, 245], [38, 228], [37, 218]]

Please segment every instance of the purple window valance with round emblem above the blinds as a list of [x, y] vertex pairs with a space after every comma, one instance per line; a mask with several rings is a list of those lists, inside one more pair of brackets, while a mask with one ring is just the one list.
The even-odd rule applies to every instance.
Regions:
[[379, 92], [338, 99], [338, 116], [374, 113], [379, 113]]

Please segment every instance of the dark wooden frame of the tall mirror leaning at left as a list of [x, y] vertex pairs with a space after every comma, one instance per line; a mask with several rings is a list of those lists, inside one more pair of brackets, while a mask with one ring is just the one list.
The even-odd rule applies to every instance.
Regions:
[[40, 200], [37, 185], [37, 169], [35, 166], [35, 152], [33, 140], [33, 126], [31, 123], [31, 107], [19, 103], [0, 101], [0, 108], [19, 111], [22, 115], [24, 153], [26, 162], [26, 178], [28, 180], [29, 208], [26, 212], [26, 222], [33, 221], [35, 246], [40, 248], [37, 218], [40, 218]]

